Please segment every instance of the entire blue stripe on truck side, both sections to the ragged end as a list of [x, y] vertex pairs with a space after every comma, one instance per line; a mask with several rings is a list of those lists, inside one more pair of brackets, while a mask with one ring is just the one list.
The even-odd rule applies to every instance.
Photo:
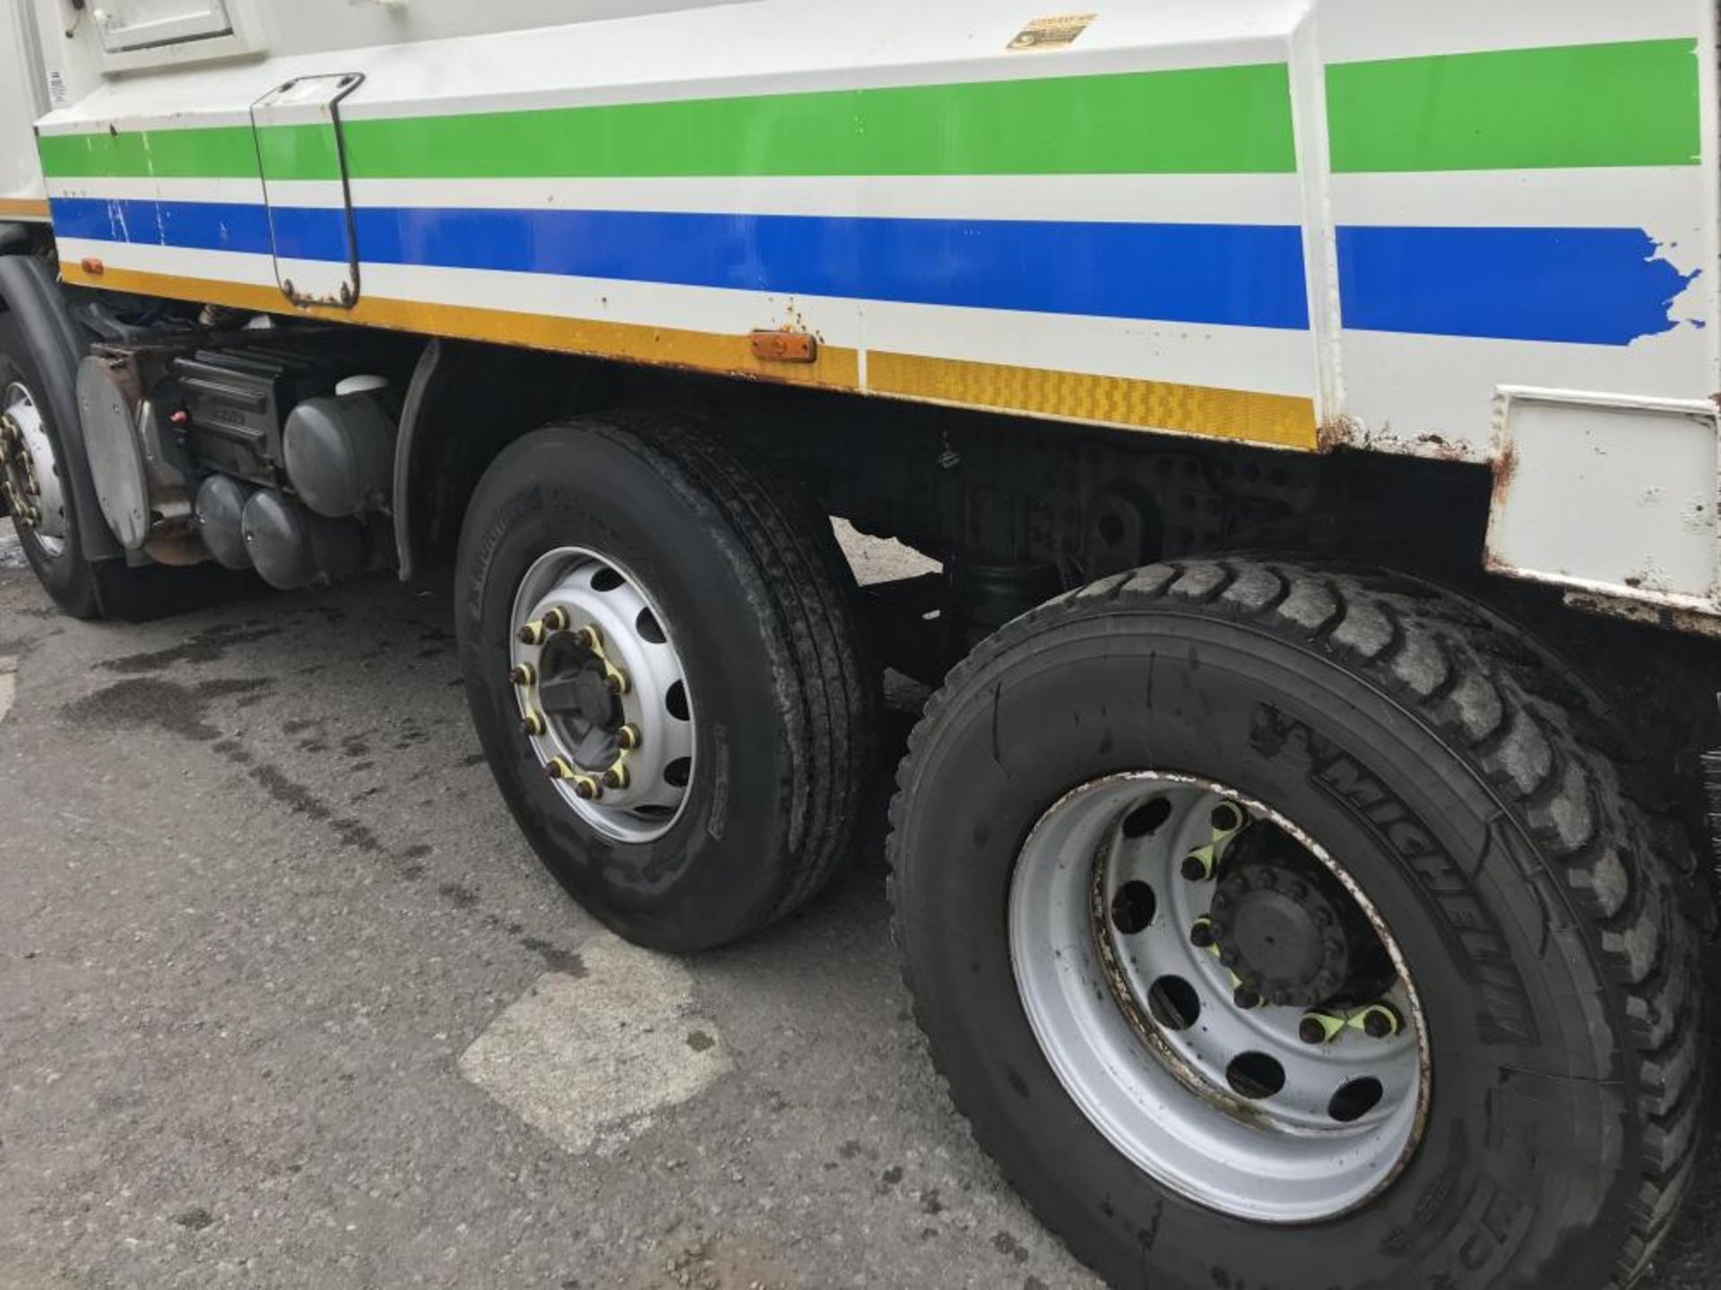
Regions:
[[[194, 201], [53, 201], [67, 237], [346, 260], [346, 215]], [[981, 310], [1306, 329], [1294, 225], [893, 220], [379, 206], [370, 263], [563, 273]], [[1642, 229], [1341, 227], [1356, 330], [1626, 346], [1676, 323], [1695, 273]]]

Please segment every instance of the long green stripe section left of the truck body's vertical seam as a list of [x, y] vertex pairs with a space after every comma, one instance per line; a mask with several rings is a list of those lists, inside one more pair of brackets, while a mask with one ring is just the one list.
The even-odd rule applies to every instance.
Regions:
[[[353, 117], [353, 179], [1291, 174], [1284, 64], [668, 103]], [[275, 136], [306, 132], [313, 138]], [[329, 179], [318, 127], [262, 131], [270, 179]], [[244, 127], [53, 134], [55, 179], [255, 177]]]

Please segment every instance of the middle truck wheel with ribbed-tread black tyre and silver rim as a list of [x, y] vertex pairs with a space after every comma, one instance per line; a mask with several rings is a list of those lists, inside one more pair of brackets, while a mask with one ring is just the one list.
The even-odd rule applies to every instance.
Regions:
[[668, 951], [799, 908], [876, 786], [878, 679], [830, 523], [700, 427], [589, 416], [478, 483], [466, 697], [539, 857]]

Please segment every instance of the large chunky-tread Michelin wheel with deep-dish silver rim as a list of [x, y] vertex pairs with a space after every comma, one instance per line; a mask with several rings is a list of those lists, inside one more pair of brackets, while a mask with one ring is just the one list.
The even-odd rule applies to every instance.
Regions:
[[1485, 612], [1158, 564], [933, 700], [897, 934], [981, 1144], [1115, 1285], [1626, 1285], [1702, 1111], [1688, 855]]

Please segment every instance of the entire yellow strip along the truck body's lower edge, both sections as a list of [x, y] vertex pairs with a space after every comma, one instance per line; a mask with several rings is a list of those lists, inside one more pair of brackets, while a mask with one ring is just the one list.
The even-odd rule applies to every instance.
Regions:
[[[780, 365], [757, 359], [752, 353], [750, 335], [368, 296], [361, 298], [351, 310], [301, 308], [289, 304], [277, 287], [117, 267], [89, 273], [72, 260], [60, 261], [60, 275], [72, 286], [231, 304], [258, 313], [296, 313], [425, 335], [685, 366], [795, 385], [843, 390], [860, 387], [857, 351], [836, 346], [821, 346], [814, 363]], [[867, 392], [964, 408], [991, 408], [1033, 416], [1060, 416], [1101, 425], [1234, 439], [1274, 447], [1308, 451], [1317, 447], [1313, 399], [1286, 394], [1253, 394], [1158, 380], [1093, 377], [1076, 372], [890, 353], [867, 354]]]

